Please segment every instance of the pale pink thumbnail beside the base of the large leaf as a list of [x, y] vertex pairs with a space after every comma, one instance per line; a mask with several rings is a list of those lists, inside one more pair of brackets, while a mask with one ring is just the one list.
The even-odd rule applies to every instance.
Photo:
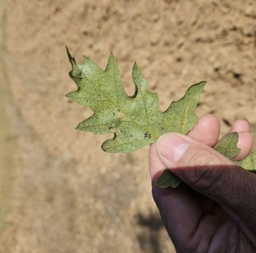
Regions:
[[162, 158], [165, 166], [172, 166], [181, 159], [190, 143], [175, 133], [162, 135], [157, 141], [158, 156]]

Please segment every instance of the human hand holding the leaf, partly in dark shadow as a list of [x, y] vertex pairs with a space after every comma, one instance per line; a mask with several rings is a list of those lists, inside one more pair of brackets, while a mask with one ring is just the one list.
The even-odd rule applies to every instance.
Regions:
[[[169, 133], [150, 147], [153, 198], [177, 253], [256, 252], [256, 175], [212, 149], [219, 130], [219, 120], [207, 114], [187, 136]], [[249, 131], [243, 120], [231, 127], [241, 149], [234, 161], [250, 153]], [[165, 168], [184, 183], [158, 188]]]

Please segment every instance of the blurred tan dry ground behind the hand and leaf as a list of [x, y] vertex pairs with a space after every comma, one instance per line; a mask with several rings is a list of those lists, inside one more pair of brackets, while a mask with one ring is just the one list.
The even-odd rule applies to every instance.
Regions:
[[92, 112], [65, 97], [65, 45], [103, 69], [113, 51], [129, 95], [137, 61], [162, 110], [207, 80], [198, 116], [256, 137], [255, 0], [6, 0], [0, 15], [0, 252], [175, 252], [148, 147], [107, 154], [111, 135], [74, 130]]

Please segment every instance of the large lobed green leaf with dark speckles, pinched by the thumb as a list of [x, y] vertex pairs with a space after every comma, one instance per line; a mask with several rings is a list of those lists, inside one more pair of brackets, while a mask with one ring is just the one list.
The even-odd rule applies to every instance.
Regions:
[[87, 57], [83, 65], [77, 65], [69, 52], [68, 58], [72, 65], [69, 75], [78, 89], [67, 97], [94, 111], [93, 116], [82, 121], [76, 129], [96, 134], [113, 133], [113, 139], [102, 144], [103, 151], [136, 151], [156, 142], [164, 133], [186, 134], [198, 120], [195, 108], [206, 82], [189, 87], [182, 99], [172, 102], [162, 113], [157, 93], [148, 90], [148, 82], [136, 63], [132, 68], [135, 92], [129, 97], [113, 54], [110, 54], [106, 70], [101, 70]]

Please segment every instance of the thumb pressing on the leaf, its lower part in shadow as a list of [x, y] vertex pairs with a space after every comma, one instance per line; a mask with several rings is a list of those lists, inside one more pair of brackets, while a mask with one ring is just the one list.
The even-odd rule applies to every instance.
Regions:
[[157, 152], [162, 163], [182, 182], [226, 210], [239, 211], [239, 207], [244, 209], [245, 203], [253, 201], [256, 176], [207, 145], [186, 135], [167, 133], [158, 139]]

